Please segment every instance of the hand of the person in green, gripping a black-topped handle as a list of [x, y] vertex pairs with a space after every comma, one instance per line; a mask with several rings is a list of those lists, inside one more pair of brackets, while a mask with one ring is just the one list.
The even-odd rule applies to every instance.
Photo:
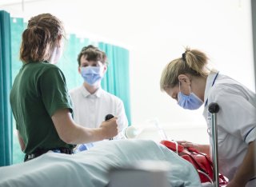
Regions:
[[111, 137], [115, 137], [118, 135], [118, 117], [113, 117], [110, 120], [103, 121], [102, 125], [99, 126], [102, 129], [102, 135], [105, 139], [109, 139]]

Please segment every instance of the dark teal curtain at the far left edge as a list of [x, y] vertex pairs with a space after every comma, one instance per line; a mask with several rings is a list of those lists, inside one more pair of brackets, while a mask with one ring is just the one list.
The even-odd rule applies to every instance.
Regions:
[[13, 162], [12, 115], [9, 102], [11, 87], [10, 14], [0, 11], [0, 166]]

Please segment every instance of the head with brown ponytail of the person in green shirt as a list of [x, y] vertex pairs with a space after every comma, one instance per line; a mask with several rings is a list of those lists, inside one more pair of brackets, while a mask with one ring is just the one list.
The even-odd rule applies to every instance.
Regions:
[[52, 14], [38, 14], [30, 18], [22, 34], [20, 59], [22, 62], [57, 61], [62, 50], [64, 28]]

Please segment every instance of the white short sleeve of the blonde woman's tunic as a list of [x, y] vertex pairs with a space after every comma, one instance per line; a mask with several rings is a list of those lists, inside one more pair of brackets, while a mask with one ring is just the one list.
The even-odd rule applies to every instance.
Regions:
[[218, 127], [246, 143], [255, 140], [256, 109], [242, 90], [228, 85], [217, 86], [210, 101], [217, 102], [220, 107]]

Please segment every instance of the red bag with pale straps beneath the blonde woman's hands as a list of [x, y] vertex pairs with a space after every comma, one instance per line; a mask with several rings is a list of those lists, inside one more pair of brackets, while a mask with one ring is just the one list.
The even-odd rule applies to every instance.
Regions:
[[[210, 157], [208, 155], [206, 155], [205, 153], [200, 153], [197, 149], [194, 148], [185, 149], [182, 145], [178, 145], [174, 141], [160, 141], [160, 143], [162, 145], [166, 145], [167, 148], [178, 153], [179, 156], [194, 165], [194, 168], [197, 169], [198, 175], [202, 183], [213, 183], [213, 162], [210, 160]], [[219, 174], [218, 177], [220, 186], [227, 185], [226, 177], [224, 177], [222, 174]]]

